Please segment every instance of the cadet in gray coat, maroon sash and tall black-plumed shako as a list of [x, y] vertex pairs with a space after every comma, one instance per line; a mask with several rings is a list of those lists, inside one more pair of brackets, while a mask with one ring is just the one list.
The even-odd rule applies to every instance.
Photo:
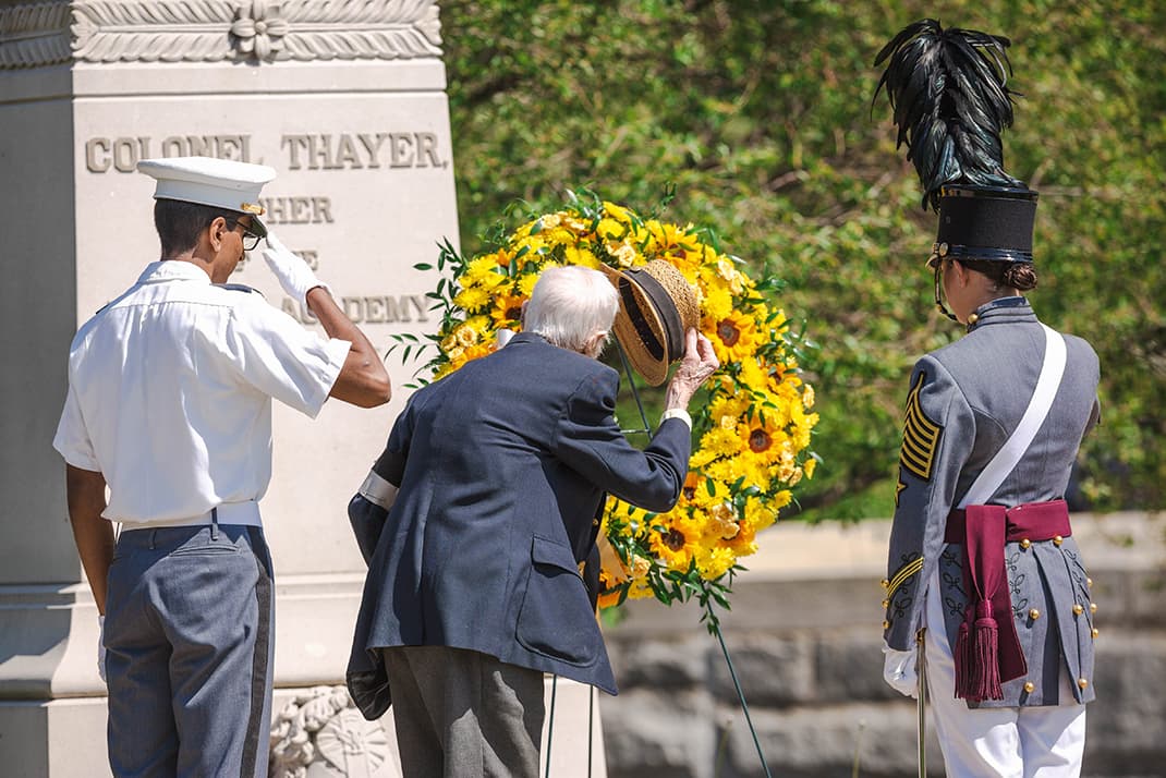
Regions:
[[1098, 364], [1021, 296], [1037, 286], [1037, 192], [1000, 160], [1007, 44], [923, 20], [877, 59], [890, 57], [879, 87], [940, 215], [936, 304], [968, 329], [911, 374], [885, 675], [915, 696], [925, 642], [949, 776], [1077, 776], [1097, 630], [1063, 497], [1100, 418]]

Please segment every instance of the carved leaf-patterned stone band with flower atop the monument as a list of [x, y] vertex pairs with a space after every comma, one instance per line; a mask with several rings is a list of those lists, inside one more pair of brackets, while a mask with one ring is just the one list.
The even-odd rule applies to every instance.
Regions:
[[441, 52], [436, 0], [49, 0], [0, 8], [0, 69]]

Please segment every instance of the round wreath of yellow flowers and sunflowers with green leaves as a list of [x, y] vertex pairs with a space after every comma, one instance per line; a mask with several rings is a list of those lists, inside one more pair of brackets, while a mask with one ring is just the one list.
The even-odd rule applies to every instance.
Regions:
[[740, 259], [719, 251], [711, 231], [644, 218], [590, 192], [569, 196], [562, 210], [529, 217], [508, 234], [497, 230], [492, 247], [470, 259], [445, 241], [437, 259], [442, 278], [427, 295], [441, 311], [440, 331], [395, 335], [391, 350], [403, 348], [408, 360], [436, 346], [419, 371], [428, 369], [436, 380], [493, 351], [499, 330], [521, 329], [522, 302], [548, 267], [674, 265], [697, 289], [701, 330], [721, 367], [693, 402], [696, 444], [676, 506], [652, 513], [607, 499], [603, 531], [627, 577], [617, 582], [604, 569], [599, 604], [696, 596], [714, 629], [711, 604], [729, 607], [733, 575], [745, 569], [738, 560], [757, 551], [758, 532], [792, 502], [799, 481], [814, 475], [809, 442], [817, 414], [814, 390], [799, 374], [800, 337], [765, 297], [779, 288], [777, 279], [754, 282]]

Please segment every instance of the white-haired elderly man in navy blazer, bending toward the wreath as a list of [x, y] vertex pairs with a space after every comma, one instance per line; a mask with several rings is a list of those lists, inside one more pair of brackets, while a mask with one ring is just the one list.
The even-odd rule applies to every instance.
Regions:
[[534, 776], [543, 673], [616, 682], [581, 576], [606, 493], [667, 511], [688, 470], [687, 405], [716, 370], [695, 330], [646, 449], [613, 418], [597, 357], [618, 309], [597, 271], [543, 272], [524, 331], [417, 391], [349, 512], [368, 576], [347, 682], [394, 707], [407, 777]]

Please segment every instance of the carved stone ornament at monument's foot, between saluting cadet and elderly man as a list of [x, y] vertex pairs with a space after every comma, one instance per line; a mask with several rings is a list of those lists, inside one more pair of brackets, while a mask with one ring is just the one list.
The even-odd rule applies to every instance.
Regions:
[[388, 737], [345, 687], [317, 686], [276, 714], [271, 749], [271, 778], [372, 778], [388, 759]]

